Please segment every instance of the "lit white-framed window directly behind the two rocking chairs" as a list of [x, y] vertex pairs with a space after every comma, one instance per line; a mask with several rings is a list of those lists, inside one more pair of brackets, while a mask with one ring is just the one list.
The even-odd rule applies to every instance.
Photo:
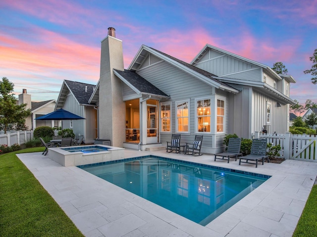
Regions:
[[176, 102], [176, 132], [189, 131], [189, 102]]

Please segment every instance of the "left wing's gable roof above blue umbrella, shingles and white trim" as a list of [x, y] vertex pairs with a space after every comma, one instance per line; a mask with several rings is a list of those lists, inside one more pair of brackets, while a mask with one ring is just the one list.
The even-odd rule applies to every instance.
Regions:
[[64, 80], [58, 95], [55, 108], [62, 107], [68, 93], [71, 93], [79, 104], [89, 104], [88, 101], [96, 85], [78, 81]]

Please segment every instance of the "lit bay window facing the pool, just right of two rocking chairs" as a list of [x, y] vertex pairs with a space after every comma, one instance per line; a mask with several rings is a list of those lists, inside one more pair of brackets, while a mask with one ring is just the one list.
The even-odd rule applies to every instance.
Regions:
[[210, 132], [211, 100], [197, 100], [196, 106], [198, 132]]

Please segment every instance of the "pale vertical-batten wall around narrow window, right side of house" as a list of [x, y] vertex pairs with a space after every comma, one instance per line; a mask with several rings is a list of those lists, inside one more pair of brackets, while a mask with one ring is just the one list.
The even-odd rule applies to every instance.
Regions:
[[252, 133], [255, 131], [262, 131], [262, 127], [268, 124], [266, 122], [267, 102], [271, 104], [271, 122], [269, 123], [269, 129], [267, 132], [276, 132], [279, 134], [287, 132], [289, 130], [289, 106], [287, 104], [279, 103], [281, 106], [278, 107], [278, 101], [254, 90], [252, 94], [252, 109], [255, 111], [255, 113], [253, 113]]

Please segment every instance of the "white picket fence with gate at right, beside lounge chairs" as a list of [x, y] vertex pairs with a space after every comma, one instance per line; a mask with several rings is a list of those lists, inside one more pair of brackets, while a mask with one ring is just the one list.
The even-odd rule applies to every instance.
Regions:
[[281, 147], [280, 158], [317, 162], [317, 136], [307, 134], [263, 134], [256, 132], [255, 138], [265, 138], [272, 147]]

